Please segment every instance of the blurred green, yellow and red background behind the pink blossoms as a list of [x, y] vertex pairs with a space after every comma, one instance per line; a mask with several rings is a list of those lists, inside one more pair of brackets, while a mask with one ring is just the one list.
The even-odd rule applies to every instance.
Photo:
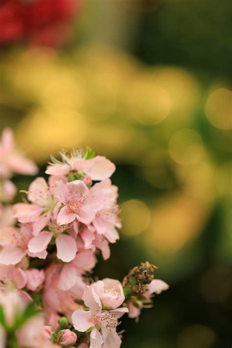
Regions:
[[123, 318], [122, 348], [232, 345], [230, 10], [230, 0], [0, 1], [0, 127], [40, 175], [61, 148], [114, 161], [123, 227], [96, 274], [122, 279], [147, 260], [170, 284], [139, 324]]

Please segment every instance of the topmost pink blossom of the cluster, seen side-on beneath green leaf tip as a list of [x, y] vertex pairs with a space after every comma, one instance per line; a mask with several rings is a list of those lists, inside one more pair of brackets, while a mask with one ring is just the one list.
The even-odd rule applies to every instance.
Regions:
[[104, 180], [109, 178], [115, 172], [115, 165], [109, 159], [103, 156], [96, 156], [86, 159], [88, 153], [83, 149], [76, 149], [67, 154], [60, 152], [62, 162], [52, 157], [54, 163], [47, 166], [46, 174], [64, 175], [72, 170], [84, 172], [92, 180]]

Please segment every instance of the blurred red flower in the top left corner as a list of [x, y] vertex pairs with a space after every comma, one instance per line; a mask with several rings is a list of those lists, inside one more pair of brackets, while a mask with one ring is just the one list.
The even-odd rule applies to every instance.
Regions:
[[0, 0], [0, 44], [59, 46], [82, 0]]

